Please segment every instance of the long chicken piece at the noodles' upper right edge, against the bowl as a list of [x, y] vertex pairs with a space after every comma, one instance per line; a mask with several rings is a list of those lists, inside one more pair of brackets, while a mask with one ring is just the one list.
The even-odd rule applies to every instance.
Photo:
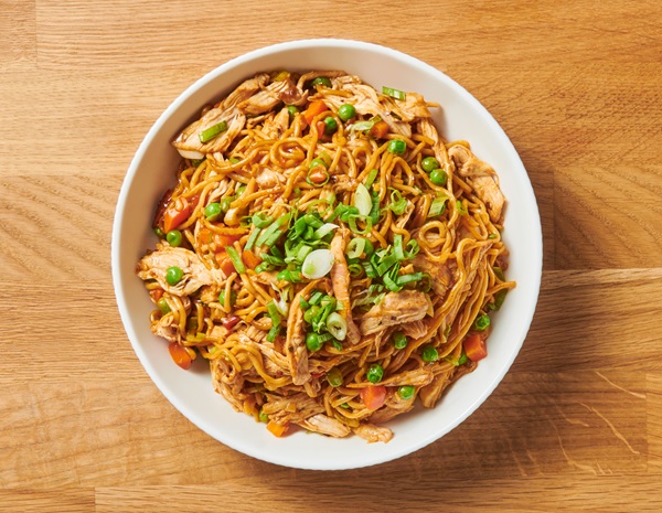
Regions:
[[455, 162], [460, 175], [467, 178], [478, 197], [485, 204], [492, 222], [499, 223], [505, 197], [499, 189], [494, 169], [477, 158], [469, 148], [462, 145], [451, 146], [448, 149], [448, 154]]

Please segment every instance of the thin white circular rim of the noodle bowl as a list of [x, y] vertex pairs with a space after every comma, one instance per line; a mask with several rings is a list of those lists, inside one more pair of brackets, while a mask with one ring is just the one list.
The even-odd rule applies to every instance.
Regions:
[[[362, 458], [356, 458], [355, 461], [352, 461], [350, 464], [346, 464], [343, 467], [339, 467], [338, 464], [324, 464], [323, 462], [318, 462], [318, 464], [303, 464], [303, 463], [301, 463], [300, 460], [286, 461], [282, 458], [277, 458], [269, 453], [263, 453], [263, 452], [258, 451], [257, 449], [254, 449], [252, 446], [242, 443], [241, 440], [237, 440], [234, 438], [228, 439], [228, 437], [220, 436], [218, 432], [216, 432], [212, 429], [212, 426], [209, 425], [209, 423], [206, 423], [204, 419], [199, 418], [194, 412], [192, 412], [190, 408], [186, 407], [186, 405], [182, 405], [181, 402], [170, 393], [168, 386], [166, 386], [166, 384], [162, 383], [159, 373], [156, 371], [156, 368], [149, 362], [147, 352], [140, 345], [139, 338], [131, 327], [131, 321], [130, 321], [131, 316], [130, 316], [130, 312], [128, 311], [126, 300], [124, 299], [125, 291], [124, 291], [124, 286], [122, 286], [122, 281], [121, 281], [121, 269], [120, 269], [120, 250], [121, 250], [120, 235], [121, 235], [121, 225], [124, 223], [124, 217], [125, 217], [125, 205], [127, 202], [127, 196], [129, 194], [129, 190], [136, 178], [136, 174], [138, 172], [138, 169], [140, 167], [140, 163], [145, 157], [147, 149], [152, 143], [154, 137], [157, 136], [158, 131], [160, 130], [162, 125], [166, 122], [166, 120], [168, 120], [172, 116], [172, 114], [175, 113], [190, 96], [192, 96], [199, 89], [204, 87], [211, 81], [216, 79], [220, 75], [223, 75], [224, 73], [227, 73], [228, 71], [231, 71], [235, 67], [247, 64], [250, 61], [255, 61], [260, 57], [274, 55], [274, 54], [277, 54], [280, 52], [285, 52], [285, 51], [311, 49], [311, 47], [320, 47], [320, 46], [337, 47], [337, 49], [355, 49], [355, 50], [375, 52], [375, 53], [382, 54], [388, 58], [394, 58], [396, 61], [403, 61], [408, 66], [421, 68], [421, 70], [426, 71], [427, 73], [437, 75], [439, 77], [439, 79], [446, 81], [447, 85], [450, 88], [455, 89], [455, 92], [457, 94], [462, 96], [465, 100], [467, 100], [468, 103], [471, 104], [472, 108], [477, 109], [481, 114], [482, 118], [484, 119], [484, 122], [489, 124], [489, 129], [499, 136], [500, 145], [504, 145], [506, 147], [506, 151], [509, 152], [510, 158], [514, 159], [521, 165], [522, 170], [524, 171], [524, 175], [526, 177], [526, 180], [528, 180], [528, 175], [526, 173], [524, 164], [522, 163], [522, 161], [520, 159], [517, 151], [515, 150], [514, 146], [512, 145], [511, 140], [509, 139], [509, 137], [506, 136], [504, 130], [501, 128], [501, 126], [496, 122], [496, 120], [492, 117], [492, 115], [487, 110], [487, 108], [483, 107], [482, 104], [480, 104], [480, 101], [478, 99], [476, 99], [467, 89], [465, 89], [461, 85], [459, 85], [457, 82], [455, 82], [452, 78], [450, 78], [448, 75], [446, 75], [441, 71], [435, 68], [434, 66], [431, 66], [416, 57], [413, 57], [404, 52], [401, 52], [398, 50], [389, 49], [386, 46], [382, 46], [378, 44], [369, 43], [369, 42], [364, 42], [364, 41], [348, 40], [348, 39], [324, 39], [324, 38], [293, 40], [293, 41], [271, 44], [268, 46], [264, 46], [264, 47], [259, 47], [259, 49], [249, 51], [247, 53], [244, 53], [234, 58], [231, 58], [229, 61], [216, 66], [215, 68], [205, 73], [202, 77], [197, 78], [190, 86], [188, 86], [166, 108], [166, 110], [163, 110], [163, 113], [157, 118], [157, 120], [153, 122], [153, 125], [150, 127], [149, 131], [147, 132], [147, 135], [145, 136], [142, 141], [140, 142], [136, 153], [134, 154], [131, 162], [129, 164], [129, 168], [126, 172], [125, 179], [122, 181], [122, 185], [121, 185], [121, 189], [120, 189], [120, 192], [118, 195], [118, 200], [117, 200], [117, 207], [115, 211], [114, 223], [113, 223], [111, 244], [110, 244], [110, 253], [111, 253], [110, 260], [111, 260], [113, 285], [114, 285], [114, 291], [115, 291], [115, 296], [116, 296], [117, 307], [118, 307], [119, 314], [120, 314], [120, 318], [122, 321], [122, 325], [129, 338], [129, 341], [131, 343], [134, 351], [136, 352], [141, 365], [148, 373], [149, 377], [154, 383], [154, 385], [158, 387], [158, 389], [161, 392], [161, 394], [163, 394], [166, 396], [166, 398], [182, 415], [184, 415], [193, 425], [195, 425], [197, 428], [200, 428], [201, 430], [206, 432], [209, 436], [211, 436], [215, 440], [221, 441], [222, 443], [226, 445], [227, 447], [231, 447], [242, 453], [248, 455], [250, 457], [254, 457], [254, 458], [263, 460], [263, 461], [267, 461], [270, 463], [276, 463], [276, 464], [280, 464], [280, 466], [285, 466], [285, 467], [290, 467], [290, 468], [300, 468], [300, 469], [346, 470], [346, 469], [362, 468], [362, 467], [383, 463], [386, 461], [392, 461], [392, 460], [402, 458], [403, 456], [413, 453], [413, 452], [426, 447], [427, 445], [440, 439], [441, 437], [444, 437], [445, 435], [450, 432], [452, 429], [455, 429], [457, 426], [459, 426], [461, 423], [463, 423], [469, 416], [471, 416], [476, 412], [476, 409], [478, 409], [478, 407], [481, 404], [483, 404], [485, 402], [485, 399], [492, 394], [492, 392], [495, 389], [495, 387], [499, 385], [499, 383], [501, 383], [501, 381], [503, 380], [505, 374], [509, 372], [512, 363], [514, 362], [515, 357], [517, 356], [517, 354], [524, 343], [526, 333], [528, 332], [531, 322], [533, 321], [533, 317], [534, 317], [536, 304], [537, 304], [537, 299], [540, 296], [540, 287], [541, 287], [541, 279], [542, 279], [543, 238], [542, 238], [542, 228], [541, 228], [541, 222], [540, 222], [540, 212], [538, 212], [537, 203], [535, 200], [535, 193], [534, 193], [532, 186], [526, 189], [527, 196], [523, 197], [521, 200], [526, 202], [526, 209], [531, 213], [531, 215], [534, 217], [534, 220], [533, 220], [534, 226], [533, 227], [536, 232], [535, 238], [533, 241], [531, 241], [532, 253], [535, 257], [535, 265], [534, 265], [535, 275], [531, 277], [533, 296], [531, 297], [531, 302], [528, 304], [528, 309], [526, 311], [522, 312], [522, 317], [523, 317], [523, 319], [525, 319], [525, 321], [521, 324], [520, 336], [517, 338], [517, 343], [513, 344], [513, 349], [511, 351], [511, 354], [510, 354], [506, 363], [500, 368], [500, 371], [496, 374], [494, 374], [492, 381], [490, 383], [487, 383], [485, 384], [487, 386], [482, 387], [482, 393], [473, 400], [473, 403], [471, 405], [469, 405], [462, 412], [462, 415], [457, 416], [452, 423], [449, 423], [447, 429], [430, 431], [429, 436], [423, 437], [419, 440], [413, 441], [413, 442], [404, 446], [402, 450], [392, 451], [386, 456], [380, 456], [381, 452], [376, 452], [376, 453], [371, 452], [370, 455], [364, 456]], [[528, 181], [528, 185], [531, 185], [530, 181]]]

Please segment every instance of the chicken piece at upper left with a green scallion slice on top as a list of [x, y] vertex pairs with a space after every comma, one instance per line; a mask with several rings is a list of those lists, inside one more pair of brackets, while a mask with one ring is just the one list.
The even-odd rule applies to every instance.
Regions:
[[[204, 130], [214, 127], [222, 121], [227, 124], [227, 129], [225, 131], [207, 142], [202, 142], [200, 140]], [[228, 109], [214, 107], [197, 121], [189, 125], [174, 141], [172, 141], [172, 146], [186, 158], [202, 158], [206, 153], [220, 153], [229, 147], [235, 137], [239, 135], [245, 124], [246, 116], [236, 107], [229, 107]]]

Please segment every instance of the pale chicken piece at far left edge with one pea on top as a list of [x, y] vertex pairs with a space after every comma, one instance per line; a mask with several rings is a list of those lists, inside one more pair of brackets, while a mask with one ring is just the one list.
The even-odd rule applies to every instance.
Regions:
[[[167, 292], [174, 296], [189, 296], [204, 285], [223, 280], [221, 271], [207, 269], [192, 250], [166, 244], [157, 247], [156, 252], [148, 253], [140, 259], [137, 274], [143, 280], [156, 279]], [[166, 280], [169, 267], [179, 267], [183, 271], [182, 279], [177, 285], [170, 285]]]

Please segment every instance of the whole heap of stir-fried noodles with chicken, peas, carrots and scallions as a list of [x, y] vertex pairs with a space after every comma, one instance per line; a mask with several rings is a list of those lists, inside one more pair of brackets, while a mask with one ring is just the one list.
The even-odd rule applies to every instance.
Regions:
[[504, 197], [416, 93], [260, 73], [173, 141], [177, 184], [138, 264], [151, 330], [267, 423], [369, 441], [487, 355]]

